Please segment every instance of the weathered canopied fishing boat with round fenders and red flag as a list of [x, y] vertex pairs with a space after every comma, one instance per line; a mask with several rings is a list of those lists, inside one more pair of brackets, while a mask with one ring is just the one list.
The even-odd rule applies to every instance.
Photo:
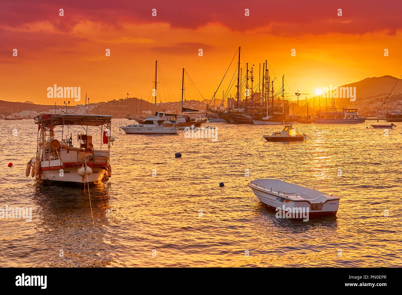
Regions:
[[[40, 183], [93, 184], [111, 177], [109, 163], [111, 142], [111, 118], [95, 114], [41, 114], [35, 117], [38, 125], [36, 157], [27, 163], [25, 175], [35, 177]], [[77, 146], [73, 145], [71, 126], [86, 126], [85, 133], [77, 134]], [[99, 148], [95, 149], [88, 127], [100, 129]], [[61, 130], [55, 130], [56, 128]], [[67, 133], [67, 134], [66, 134]], [[56, 134], [59, 136], [57, 137]]]

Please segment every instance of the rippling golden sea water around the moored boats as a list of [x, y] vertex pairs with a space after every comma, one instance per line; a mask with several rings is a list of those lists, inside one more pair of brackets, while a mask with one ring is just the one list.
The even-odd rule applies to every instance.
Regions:
[[[262, 136], [283, 126], [207, 123], [218, 128], [213, 142], [183, 131], [126, 135], [119, 122], [112, 124], [112, 177], [90, 188], [93, 226], [88, 191], [25, 177], [36, 147], [33, 120], [0, 120], [0, 207], [33, 210], [31, 222], [0, 219], [1, 266], [402, 266], [402, 124], [388, 136], [366, 129], [370, 123], [294, 124], [311, 138], [275, 143]], [[74, 140], [82, 130], [70, 132]], [[341, 210], [308, 222], [277, 219], [246, 187], [260, 178], [334, 193], [356, 220]]]

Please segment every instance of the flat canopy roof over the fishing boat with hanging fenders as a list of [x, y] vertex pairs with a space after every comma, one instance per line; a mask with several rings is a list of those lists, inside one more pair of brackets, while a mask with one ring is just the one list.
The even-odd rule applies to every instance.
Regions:
[[35, 124], [100, 126], [111, 121], [113, 116], [95, 114], [40, 114]]

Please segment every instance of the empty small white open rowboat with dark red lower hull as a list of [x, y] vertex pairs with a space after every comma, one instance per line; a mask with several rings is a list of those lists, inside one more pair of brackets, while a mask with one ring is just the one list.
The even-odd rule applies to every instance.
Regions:
[[276, 211], [294, 213], [304, 210], [309, 216], [335, 215], [338, 211], [339, 197], [299, 185], [296, 181], [258, 179], [250, 181], [248, 186], [261, 202]]

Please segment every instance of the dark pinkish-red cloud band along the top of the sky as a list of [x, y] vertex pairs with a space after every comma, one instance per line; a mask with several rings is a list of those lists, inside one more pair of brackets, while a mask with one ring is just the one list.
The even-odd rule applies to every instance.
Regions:
[[[402, 27], [400, 0], [332, 0], [275, 1], [266, 0], [156, 0], [156, 1], [18, 1], [2, 2], [0, 24], [23, 26], [30, 22], [48, 21], [60, 31], [69, 31], [83, 20], [119, 28], [121, 22], [167, 22], [172, 27], [195, 29], [208, 23], [219, 23], [235, 31], [270, 26], [272, 34], [300, 35], [325, 33], [362, 34], [378, 30], [394, 33]], [[64, 16], [59, 16], [59, 8]], [[157, 16], [151, 16], [152, 8]], [[244, 10], [250, 9], [250, 16]], [[343, 16], [337, 16], [337, 10]]]

